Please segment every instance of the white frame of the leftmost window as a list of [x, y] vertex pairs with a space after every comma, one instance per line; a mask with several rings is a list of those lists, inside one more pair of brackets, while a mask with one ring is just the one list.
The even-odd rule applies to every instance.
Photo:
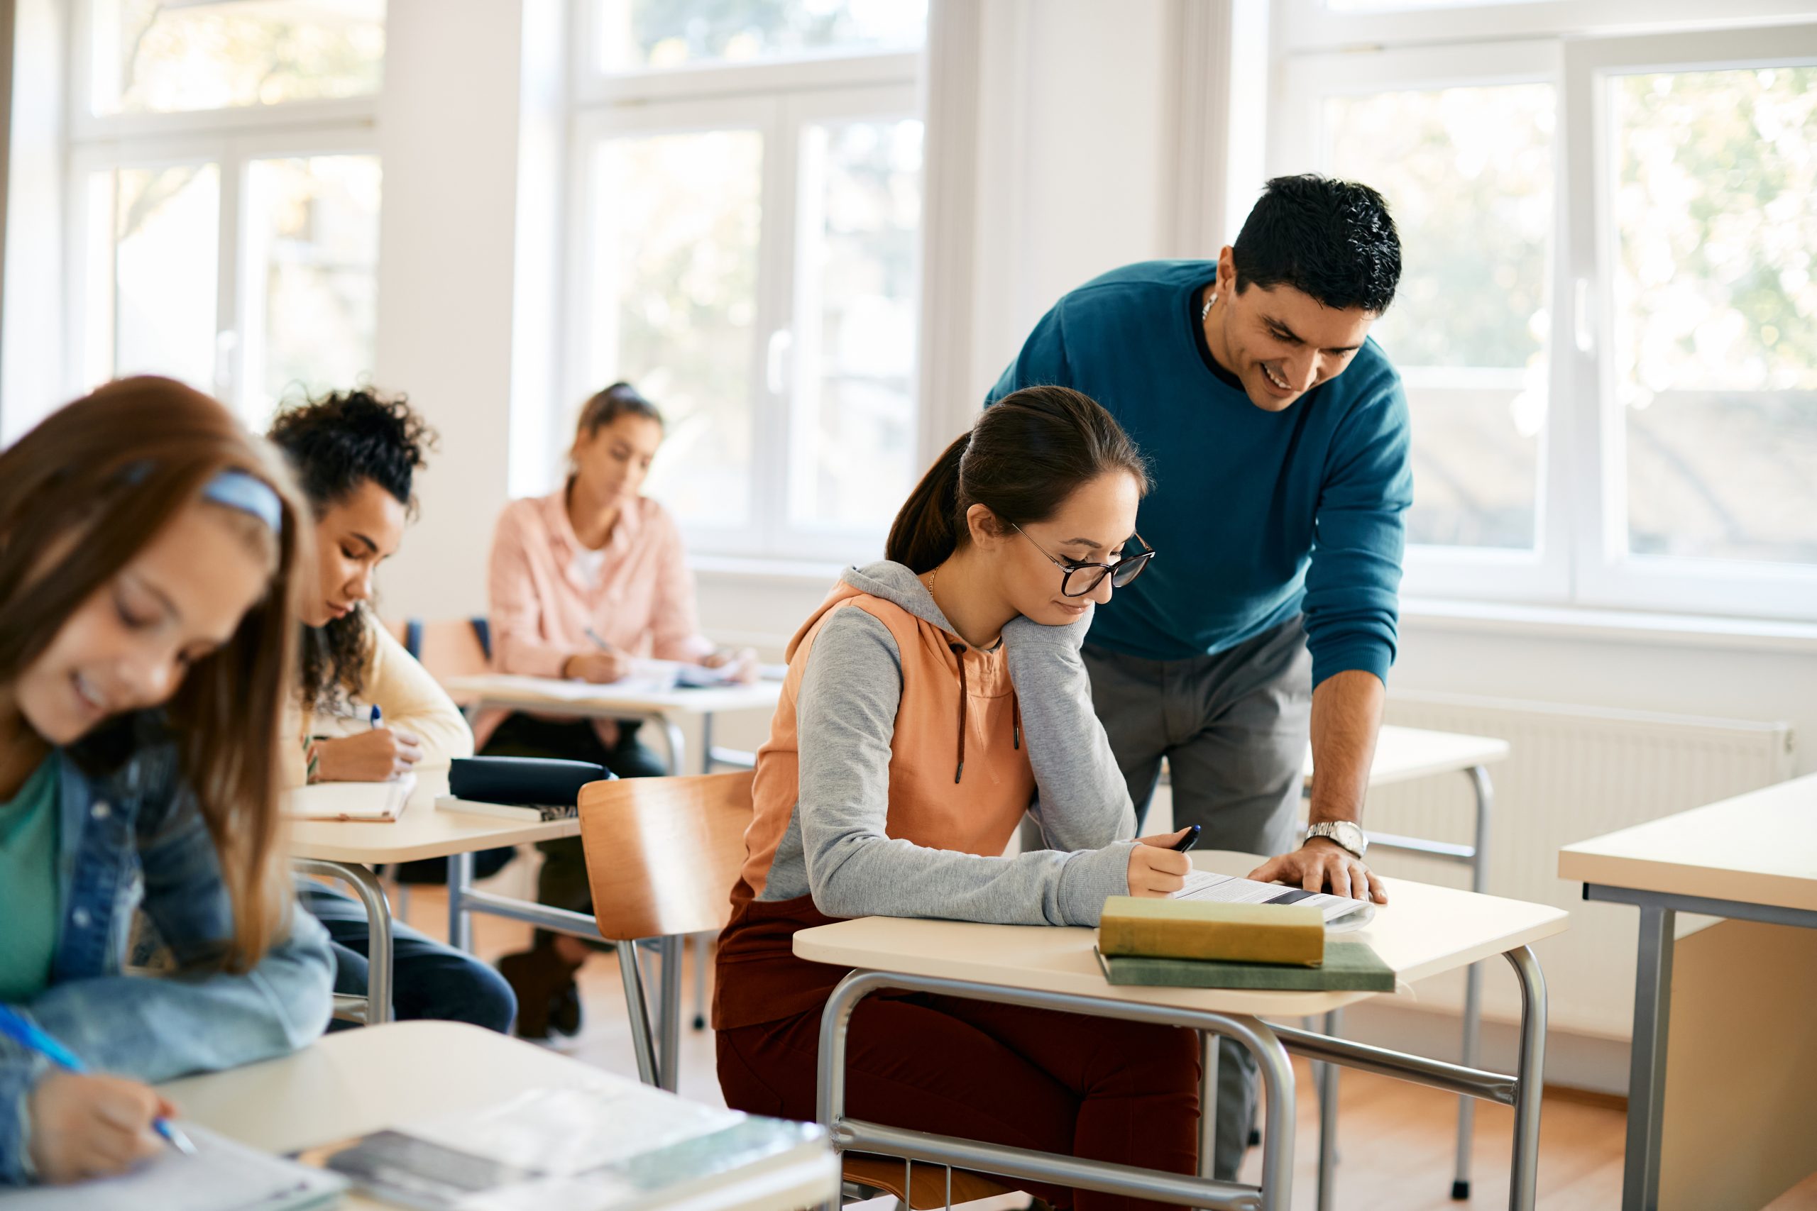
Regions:
[[[358, 98], [238, 105], [178, 113], [96, 114], [91, 111], [93, 4], [78, 0], [67, 45], [69, 91], [65, 96], [69, 162], [64, 178], [64, 349], [65, 396], [89, 390], [96, 350], [85, 323], [91, 272], [87, 229], [87, 180], [91, 172], [176, 163], [216, 163], [220, 171], [220, 247], [214, 294], [214, 381], [204, 383], [262, 428], [267, 416], [254, 416], [254, 385], [249, 381], [247, 340], [262, 314], [262, 300], [249, 294], [254, 269], [251, 216], [243, 207], [245, 182], [254, 160], [291, 156], [378, 156], [378, 109], [382, 93]], [[380, 85], [383, 87], [383, 85]], [[383, 171], [383, 165], [380, 165]], [[105, 350], [111, 365], [113, 350]]]

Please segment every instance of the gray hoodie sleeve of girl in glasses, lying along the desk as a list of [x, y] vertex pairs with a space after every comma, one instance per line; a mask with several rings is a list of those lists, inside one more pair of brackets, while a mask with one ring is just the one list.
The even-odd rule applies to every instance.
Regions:
[[889, 628], [858, 608], [829, 617], [796, 697], [796, 817], [819, 911], [1092, 926], [1107, 895], [1128, 893], [1127, 844], [1007, 859], [885, 835], [899, 701], [901, 655]]

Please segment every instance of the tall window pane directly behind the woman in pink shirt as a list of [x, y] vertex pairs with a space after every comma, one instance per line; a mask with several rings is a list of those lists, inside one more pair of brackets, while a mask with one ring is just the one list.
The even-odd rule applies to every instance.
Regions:
[[669, 419], [650, 492], [683, 521], [750, 521], [763, 136], [614, 138], [594, 158], [589, 383]]

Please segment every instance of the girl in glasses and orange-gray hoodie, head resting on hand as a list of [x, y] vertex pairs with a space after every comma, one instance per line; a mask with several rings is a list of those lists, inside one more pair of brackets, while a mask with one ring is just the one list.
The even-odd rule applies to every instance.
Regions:
[[[845, 971], [796, 959], [796, 930], [874, 913], [1092, 926], [1108, 895], [1183, 886], [1188, 861], [1170, 848], [1183, 833], [1130, 841], [1136, 815], [1079, 659], [1094, 606], [1154, 557], [1125, 554], [1147, 487], [1092, 399], [1014, 392], [927, 472], [887, 559], [849, 570], [796, 634], [720, 937], [730, 1106], [814, 1117], [819, 1015]], [[1048, 848], [999, 857], [1025, 813]], [[852, 1017], [849, 1055], [861, 1118], [1194, 1171], [1190, 1029], [876, 997]]]

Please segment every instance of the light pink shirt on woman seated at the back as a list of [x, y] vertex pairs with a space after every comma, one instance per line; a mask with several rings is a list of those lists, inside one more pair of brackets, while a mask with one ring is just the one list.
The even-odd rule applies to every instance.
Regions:
[[[487, 588], [492, 668], [501, 674], [560, 677], [571, 655], [598, 650], [587, 628], [632, 655], [698, 661], [712, 652], [696, 623], [681, 532], [669, 510], [643, 496], [620, 512], [598, 554], [574, 536], [565, 485], [512, 501], [492, 534]], [[478, 746], [503, 717], [489, 710], [474, 723]], [[600, 723], [611, 743], [618, 728]]]

